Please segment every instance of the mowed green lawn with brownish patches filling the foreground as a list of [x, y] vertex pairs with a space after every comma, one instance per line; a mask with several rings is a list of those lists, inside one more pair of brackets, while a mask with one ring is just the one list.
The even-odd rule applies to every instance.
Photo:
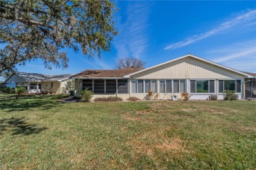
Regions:
[[0, 169], [255, 169], [255, 101], [0, 95]]

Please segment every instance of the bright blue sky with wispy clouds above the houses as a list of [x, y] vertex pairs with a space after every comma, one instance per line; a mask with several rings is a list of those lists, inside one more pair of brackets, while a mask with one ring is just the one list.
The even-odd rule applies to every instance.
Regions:
[[146, 67], [186, 54], [256, 73], [256, 1], [117, 1], [119, 35], [100, 59], [66, 49], [68, 69], [45, 69], [41, 61], [18, 71], [44, 74], [114, 69], [118, 58], [134, 57]]

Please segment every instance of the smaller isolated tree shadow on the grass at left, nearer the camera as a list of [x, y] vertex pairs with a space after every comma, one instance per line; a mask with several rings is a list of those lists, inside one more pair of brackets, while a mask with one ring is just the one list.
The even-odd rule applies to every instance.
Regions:
[[37, 127], [35, 124], [28, 124], [24, 117], [20, 118], [4, 118], [0, 120], [0, 135], [3, 131], [8, 131], [9, 128], [12, 129], [12, 135], [31, 135], [37, 134], [41, 131], [47, 129], [46, 127]]

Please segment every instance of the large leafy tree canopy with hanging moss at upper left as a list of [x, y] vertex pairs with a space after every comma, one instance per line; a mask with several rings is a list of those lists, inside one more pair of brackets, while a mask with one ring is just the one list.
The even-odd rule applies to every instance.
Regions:
[[66, 47], [100, 57], [117, 35], [115, 10], [107, 0], [0, 0], [0, 73], [32, 59], [66, 68]]

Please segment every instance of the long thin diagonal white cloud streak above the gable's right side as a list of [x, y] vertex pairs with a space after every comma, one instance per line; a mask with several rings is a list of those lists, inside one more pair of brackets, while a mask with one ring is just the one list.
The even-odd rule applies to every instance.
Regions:
[[200, 35], [193, 35], [191, 37], [184, 39], [183, 41], [179, 41], [179, 42], [170, 44], [169, 46], [166, 46], [164, 48], [164, 50], [181, 48], [182, 46], [186, 46], [188, 44], [192, 44], [193, 42], [200, 41], [200, 40], [205, 39], [211, 35], [215, 35], [216, 33], [219, 33], [225, 29], [233, 27], [234, 25], [238, 25], [242, 22], [252, 20], [253, 18], [256, 18], [256, 10], [250, 10], [249, 12], [246, 12], [245, 14], [240, 14], [239, 16], [236, 16], [235, 18], [230, 18], [227, 22], [223, 22], [222, 24], [218, 25], [217, 27], [213, 27], [209, 31], [206, 31], [205, 33], [201, 33]]

